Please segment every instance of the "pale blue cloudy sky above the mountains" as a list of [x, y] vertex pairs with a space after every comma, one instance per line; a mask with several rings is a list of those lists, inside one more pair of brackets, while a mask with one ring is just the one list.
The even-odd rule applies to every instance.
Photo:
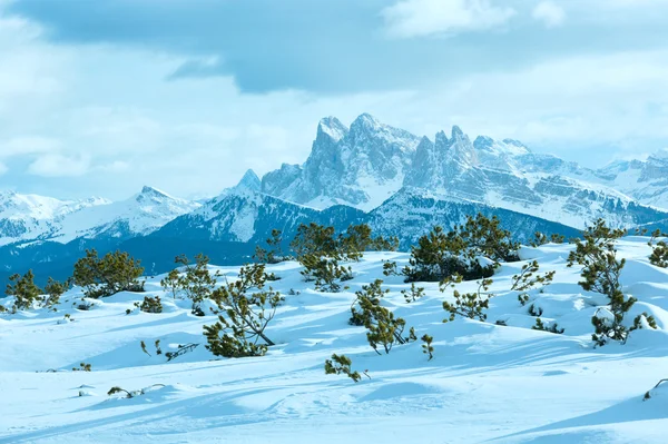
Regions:
[[0, 0], [0, 189], [218, 194], [317, 122], [668, 147], [668, 0]]

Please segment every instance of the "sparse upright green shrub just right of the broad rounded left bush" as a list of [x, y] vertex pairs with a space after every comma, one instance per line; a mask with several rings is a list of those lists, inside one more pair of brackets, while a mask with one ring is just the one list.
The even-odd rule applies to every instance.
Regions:
[[203, 254], [195, 256], [195, 264], [191, 264], [186, 255], [177, 256], [174, 262], [180, 264], [183, 272], [178, 268], [173, 269], [160, 280], [160, 285], [166, 292], [171, 293], [174, 298], [185, 295], [193, 302], [193, 314], [204, 316], [202, 303], [212, 297], [220, 273], [209, 272], [209, 258]]

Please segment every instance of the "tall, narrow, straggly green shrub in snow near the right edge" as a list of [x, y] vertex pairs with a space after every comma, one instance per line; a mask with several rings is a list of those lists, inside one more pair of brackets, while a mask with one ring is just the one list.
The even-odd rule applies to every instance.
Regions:
[[[656, 325], [654, 318], [646, 313], [639, 315], [633, 322], [633, 327], [623, 325], [625, 315], [637, 302], [633, 297], [626, 297], [622, 292], [619, 276], [626, 260], [617, 258], [617, 239], [626, 235], [623, 229], [612, 229], [603, 219], [598, 219], [593, 226], [583, 233], [583, 240], [576, 241], [576, 249], [568, 257], [568, 266], [574, 264], [582, 266], [583, 280], [578, 284], [587, 292], [596, 292], [608, 296], [609, 305], [599, 308], [591, 323], [595, 333], [592, 341], [598, 346], [606, 345], [609, 341], [626, 344], [629, 333], [641, 326], [641, 319]], [[651, 319], [651, 320], [650, 320]]]

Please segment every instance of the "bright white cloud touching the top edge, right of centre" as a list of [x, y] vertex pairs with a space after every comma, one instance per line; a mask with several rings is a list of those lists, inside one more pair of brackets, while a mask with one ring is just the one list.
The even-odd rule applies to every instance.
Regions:
[[402, 0], [382, 11], [389, 34], [397, 38], [490, 29], [514, 13], [490, 0]]

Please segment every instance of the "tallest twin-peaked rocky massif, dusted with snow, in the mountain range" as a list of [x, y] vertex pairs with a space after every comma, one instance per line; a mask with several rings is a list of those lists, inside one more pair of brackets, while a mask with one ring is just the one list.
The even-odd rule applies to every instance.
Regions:
[[402, 187], [420, 138], [364, 114], [350, 129], [320, 121], [304, 165], [286, 165], [262, 179], [262, 191], [314, 208], [336, 204], [370, 210]]

